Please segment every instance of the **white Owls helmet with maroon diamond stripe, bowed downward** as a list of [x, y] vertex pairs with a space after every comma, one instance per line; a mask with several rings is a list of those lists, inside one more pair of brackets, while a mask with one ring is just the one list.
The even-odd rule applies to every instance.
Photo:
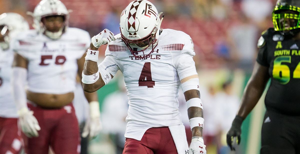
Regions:
[[153, 51], [157, 46], [161, 14], [162, 12], [158, 14], [156, 7], [147, 0], [132, 1], [123, 10], [120, 18], [121, 37], [135, 57], [138, 52], [144, 53], [150, 46]]

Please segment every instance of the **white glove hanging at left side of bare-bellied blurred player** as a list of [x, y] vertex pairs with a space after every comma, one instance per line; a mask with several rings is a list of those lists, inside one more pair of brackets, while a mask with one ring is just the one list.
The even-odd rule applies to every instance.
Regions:
[[23, 107], [18, 111], [18, 115], [22, 132], [29, 138], [38, 137], [38, 131], [41, 130], [41, 127], [38, 124], [38, 120], [33, 116], [33, 111], [29, 111], [27, 107]]

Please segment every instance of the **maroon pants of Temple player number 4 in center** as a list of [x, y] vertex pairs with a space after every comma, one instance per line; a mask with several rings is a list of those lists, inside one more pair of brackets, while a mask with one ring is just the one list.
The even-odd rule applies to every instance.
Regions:
[[178, 154], [169, 127], [149, 128], [141, 141], [126, 138], [123, 154], [137, 153]]

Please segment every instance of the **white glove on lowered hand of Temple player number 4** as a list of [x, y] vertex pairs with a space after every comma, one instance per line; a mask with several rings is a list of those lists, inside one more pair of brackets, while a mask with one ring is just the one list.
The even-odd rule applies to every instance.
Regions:
[[206, 154], [203, 138], [193, 138], [190, 143], [189, 154]]

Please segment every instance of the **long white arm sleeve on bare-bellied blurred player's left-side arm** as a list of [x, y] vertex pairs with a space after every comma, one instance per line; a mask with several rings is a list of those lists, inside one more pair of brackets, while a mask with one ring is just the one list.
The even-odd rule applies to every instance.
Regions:
[[27, 108], [25, 85], [27, 80], [27, 69], [13, 67], [13, 95], [18, 110]]

